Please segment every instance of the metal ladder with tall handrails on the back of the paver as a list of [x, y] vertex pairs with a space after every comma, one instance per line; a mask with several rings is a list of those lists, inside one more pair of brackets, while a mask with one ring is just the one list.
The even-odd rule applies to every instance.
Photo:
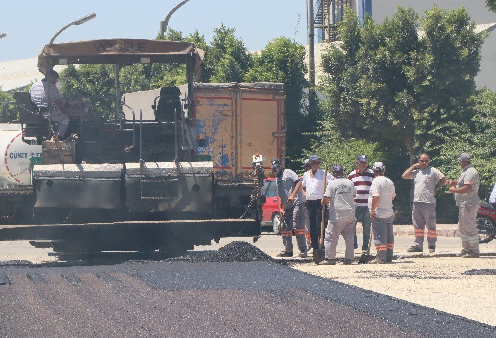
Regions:
[[[176, 109], [174, 109], [174, 146], [175, 146], [175, 159], [176, 164], [176, 176], [169, 176], [165, 178], [158, 179], [146, 179], [143, 174], [143, 110], [140, 111], [139, 116], [139, 196], [140, 199], [157, 199], [157, 200], [173, 200], [179, 197], [179, 159], [178, 159], [178, 127], [177, 127], [177, 117]], [[161, 174], [160, 174], [161, 175]], [[162, 176], [161, 176], [162, 177]], [[147, 196], [143, 195], [143, 185], [153, 185], [154, 191], [160, 189], [160, 191], [168, 193], [174, 192], [174, 194], [169, 196]], [[158, 186], [157, 186], [158, 185]], [[173, 188], [173, 189], [171, 189]]]

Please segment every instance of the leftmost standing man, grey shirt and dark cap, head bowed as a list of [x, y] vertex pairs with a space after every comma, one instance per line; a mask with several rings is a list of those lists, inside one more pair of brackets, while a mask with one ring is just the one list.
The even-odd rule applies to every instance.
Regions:
[[[279, 214], [284, 222], [281, 224], [284, 251], [277, 257], [293, 257], [293, 237], [295, 230], [296, 242], [300, 249], [298, 257], [307, 257], [305, 244], [305, 198], [301, 192], [302, 181], [291, 169], [284, 169], [279, 158], [272, 160], [272, 173], [277, 177], [279, 191]], [[283, 210], [284, 205], [284, 210]]]

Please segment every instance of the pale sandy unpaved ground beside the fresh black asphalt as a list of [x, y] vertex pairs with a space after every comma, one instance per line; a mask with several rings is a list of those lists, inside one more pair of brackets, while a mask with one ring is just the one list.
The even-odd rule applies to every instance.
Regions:
[[488, 301], [494, 275], [464, 275], [496, 268], [496, 257], [405, 258], [391, 264], [315, 265], [292, 268], [496, 326], [496, 303]]

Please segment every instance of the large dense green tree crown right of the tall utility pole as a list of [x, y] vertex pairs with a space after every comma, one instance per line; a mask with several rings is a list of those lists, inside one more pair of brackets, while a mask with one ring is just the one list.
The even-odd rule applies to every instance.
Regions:
[[439, 142], [453, 119], [470, 119], [484, 36], [473, 32], [465, 8], [436, 6], [421, 21], [398, 7], [382, 24], [360, 28], [345, 14], [340, 49], [323, 57], [328, 112], [345, 133], [383, 145], [402, 144], [411, 159]]

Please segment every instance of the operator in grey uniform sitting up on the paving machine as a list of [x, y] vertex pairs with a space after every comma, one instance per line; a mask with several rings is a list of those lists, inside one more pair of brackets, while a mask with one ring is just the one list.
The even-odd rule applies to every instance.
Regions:
[[66, 109], [61, 100], [59, 89], [55, 86], [58, 80], [59, 73], [51, 69], [50, 84], [48, 83], [47, 78], [42, 79], [40, 82], [35, 82], [29, 89], [29, 95], [36, 106], [40, 108], [40, 113], [44, 115], [44, 118], [48, 119], [47, 91], [48, 86], [50, 85], [50, 101], [52, 103], [55, 102], [51, 120], [58, 123], [55, 137], [60, 141], [64, 139], [67, 128], [69, 127], [69, 117], [66, 115]]

